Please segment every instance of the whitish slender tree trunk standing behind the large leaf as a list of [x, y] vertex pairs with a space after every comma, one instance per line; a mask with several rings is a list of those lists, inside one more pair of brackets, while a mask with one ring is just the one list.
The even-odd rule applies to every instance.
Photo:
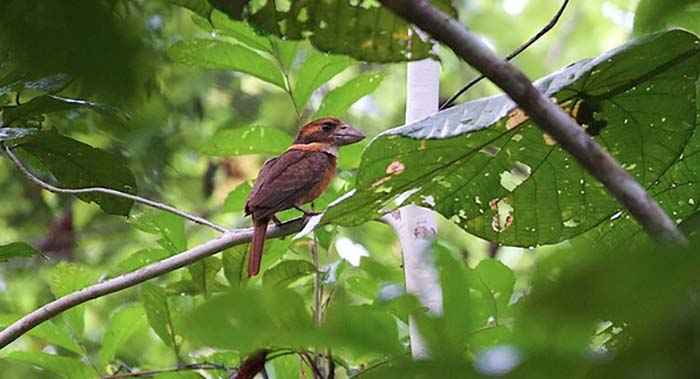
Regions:
[[[425, 59], [408, 64], [406, 123], [425, 118], [438, 110], [440, 64]], [[387, 215], [403, 251], [406, 291], [415, 295], [433, 314], [442, 313], [440, 278], [432, 256], [432, 243], [437, 234], [435, 214], [425, 208], [409, 205]], [[418, 333], [415, 320], [409, 319], [411, 353], [416, 359], [429, 355]]]

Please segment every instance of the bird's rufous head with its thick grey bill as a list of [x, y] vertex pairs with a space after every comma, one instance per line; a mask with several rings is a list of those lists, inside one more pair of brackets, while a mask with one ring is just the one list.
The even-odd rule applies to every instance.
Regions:
[[334, 146], [350, 145], [365, 138], [364, 133], [335, 117], [314, 120], [299, 129], [295, 144], [327, 143]]

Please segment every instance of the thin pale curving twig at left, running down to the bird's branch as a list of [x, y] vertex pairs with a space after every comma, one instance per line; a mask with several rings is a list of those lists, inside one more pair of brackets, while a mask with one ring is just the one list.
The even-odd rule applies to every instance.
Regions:
[[127, 192], [118, 191], [118, 190], [115, 190], [112, 188], [105, 188], [105, 187], [61, 188], [61, 187], [56, 187], [54, 185], [46, 183], [45, 181], [39, 179], [38, 176], [34, 175], [27, 168], [27, 166], [25, 166], [24, 163], [22, 163], [22, 161], [15, 155], [15, 153], [12, 151], [12, 149], [9, 146], [7, 146], [4, 142], [0, 142], [0, 144], [2, 144], [2, 148], [5, 150], [5, 153], [7, 154], [7, 156], [10, 157], [12, 162], [14, 162], [15, 166], [17, 166], [17, 168], [19, 168], [19, 170], [22, 171], [22, 173], [25, 176], [27, 178], [29, 178], [29, 180], [36, 183], [37, 185], [39, 185], [40, 187], [42, 187], [43, 189], [45, 189], [47, 191], [51, 191], [51, 192], [55, 192], [55, 193], [65, 193], [65, 194], [71, 194], [71, 195], [77, 195], [77, 194], [82, 194], [82, 193], [104, 193], [104, 194], [111, 195], [111, 196], [122, 197], [122, 198], [126, 198], [129, 200], [133, 200], [137, 203], [147, 205], [149, 207], [153, 207], [156, 209], [160, 209], [162, 211], [173, 213], [173, 214], [178, 215], [182, 218], [186, 218], [194, 223], [208, 226], [208, 227], [210, 227], [210, 228], [212, 228], [220, 233], [226, 233], [226, 231], [227, 231], [227, 229], [221, 225], [217, 225], [217, 224], [215, 224], [209, 220], [206, 220], [204, 218], [201, 218], [199, 216], [195, 216], [195, 215], [187, 213], [185, 211], [181, 211], [177, 208], [171, 207], [170, 205], [159, 203], [157, 201], [153, 201], [150, 199], [146, 199], [145, 197], [132, 195], [132, 194], [127, 193]]

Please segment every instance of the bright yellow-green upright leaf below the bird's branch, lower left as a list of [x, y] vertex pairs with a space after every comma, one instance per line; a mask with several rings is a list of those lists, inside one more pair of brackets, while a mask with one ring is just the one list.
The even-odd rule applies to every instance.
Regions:
[[123, 349], [135, 331], [145, 325], [146, 314], [139, 304], [129, 304], [114, 311], [102, 336], [100, 364], [105, 367], [114, 360], [119, 349]]

